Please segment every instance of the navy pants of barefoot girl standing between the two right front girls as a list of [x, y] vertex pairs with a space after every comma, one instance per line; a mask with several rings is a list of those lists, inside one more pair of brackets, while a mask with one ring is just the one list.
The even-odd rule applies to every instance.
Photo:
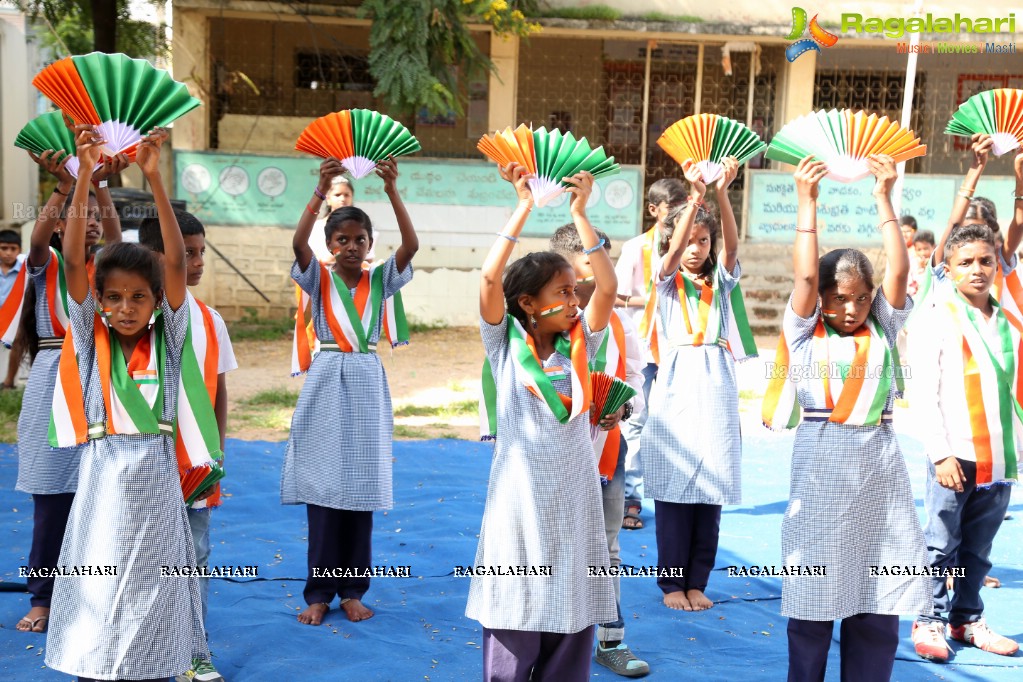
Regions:
[[665, 594], [705, 591], [717, 556], [721, 505], [654, 500], [654, 513], [658, 567], [683, 569], [681, 578], [658, 576], [657, 586]]

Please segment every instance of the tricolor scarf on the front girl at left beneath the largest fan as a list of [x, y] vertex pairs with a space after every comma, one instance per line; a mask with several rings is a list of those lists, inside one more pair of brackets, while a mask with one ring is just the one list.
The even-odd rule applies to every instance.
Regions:
[[88, 423], [79, 374], [79, 355], [74, 334], [65, 334], [53, 391], [49, 442], [54, 448], [82, 445], [90, 439], [115, 434], [174, 435], [173, 424], [162, 420], [164, 407], [164, 319], [158, 309], [154, 320], [125, 359], [121, 344], [105, 317], [96, 313], [93, 335], [96, 364], [106, 422]]

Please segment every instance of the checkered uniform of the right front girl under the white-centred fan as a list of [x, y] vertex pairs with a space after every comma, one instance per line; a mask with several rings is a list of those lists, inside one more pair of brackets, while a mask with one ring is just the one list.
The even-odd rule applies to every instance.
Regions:
[[[878, 288], [871, 313], [889, 347], [911, 311], [911, 299], [895, 310]], [[783, 324], [791, 366], [817, 366], [813, 331], [819, 316], [819, 302], [810, 317], [801, 318], [790, 300]], [[850, 337], [850, 349], [851, 343]], [[804, 410], [827, 410], [815, 402], [810, 380], [800, 381], [799, 404]], [[889, 413], [894, 392], [892, 381], [885, 403]], [[874, 565], [930, 565], [909, 475], [890, 422], [853, 426], [804, 419], [796, 429], [791, 476], [782, 521], [783, 562], [826, 566], [827, 576], [783, 578], [783, 616], [834, 621], [856, 613], [931, 611], [930, 578], [870, 575]]]

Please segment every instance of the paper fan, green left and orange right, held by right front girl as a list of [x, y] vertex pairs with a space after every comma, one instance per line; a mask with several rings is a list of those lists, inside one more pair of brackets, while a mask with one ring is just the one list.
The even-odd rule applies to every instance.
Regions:
[[888, 117], [850, 109], [818, 110], [790, 121], [767, 147], [766, 156], [797, 165], [811, 155], [828, 165], [828, 177], [855, 182], [871, 174], [866, 157], [888, 154], [895, 163], [923, 156], [927, 145]]

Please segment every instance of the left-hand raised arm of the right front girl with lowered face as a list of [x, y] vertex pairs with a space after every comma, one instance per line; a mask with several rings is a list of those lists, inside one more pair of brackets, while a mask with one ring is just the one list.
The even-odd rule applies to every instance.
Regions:
[[796, 195], [799, 198], [799, 214], [796, 217], [796, 242], [792, 248], [792, 268], [795, 284], [792, 288], [792, 310], [800, 317], [809, 317], [817, 308], [817, 195], [819, 183], [828, 175], [824, 162], [806, 156], [793, 178], [796, 180]]

